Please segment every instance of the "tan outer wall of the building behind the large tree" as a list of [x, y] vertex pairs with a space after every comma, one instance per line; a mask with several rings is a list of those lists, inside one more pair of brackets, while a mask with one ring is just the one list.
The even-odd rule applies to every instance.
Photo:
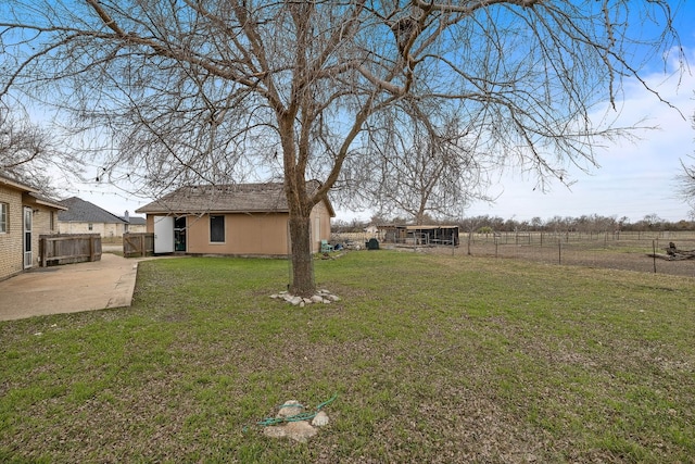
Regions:
[[[215, 214], [215, 213], [213, 213]], [[216, 215], [216, 214], [215, 214]], [[237, 255], [287, 255], [289, 243], [287, 213], [219, 214], [225, 216], [225, 241], [210, 241], [210, 215], [189, 215], [187, 253]], [[148, 233], [154, 231], [154, 216], [147, 216]], [[320, 250], [320, 240], [330, 238], [330, 214], [324, 203], [312, 212], [312, 246]]]

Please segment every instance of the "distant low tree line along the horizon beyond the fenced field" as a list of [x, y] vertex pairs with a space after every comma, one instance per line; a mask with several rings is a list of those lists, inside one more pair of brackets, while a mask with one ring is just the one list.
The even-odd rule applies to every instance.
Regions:
[[[451, 221], [437, 221], [429, 218], [424, 224], [457, 225], [462, 233], [501, 233], [501, 231], [554, 231], [554, 233], [618, 233], [618, 231], [660, 231], [660, 230], [695, 230], [695, 222], [662, 220], [657, 214], [647, 214], [642, 220], [630, 222], [627, 216], [601, 216], [597, 214], [582, 215], [579, 217], [553, 216], [547, 220], [533, 217], [531, 221], [515, 218], [505, 220], [498, 216], [472, 216]], [[368, 221], [337, 220], [332, 223], [336, 233], [364, 231], [370, 225], [388, 224], [414, 224], [412, 218], [393, 217], [386, 218], [372, 216]]]

